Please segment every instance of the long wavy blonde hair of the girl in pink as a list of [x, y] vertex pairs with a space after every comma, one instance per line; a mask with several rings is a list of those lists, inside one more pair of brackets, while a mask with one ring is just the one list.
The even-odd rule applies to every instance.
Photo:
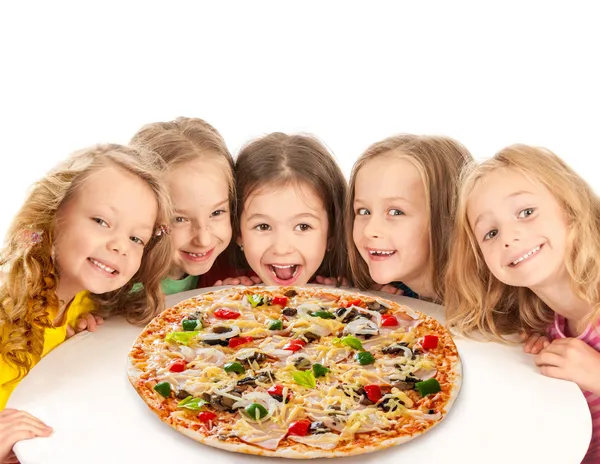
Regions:
[[526, 287], [496, 279], [487, 265], [467, 218], [475, 185], [498, 169], [510, 169], [552, 193], [568, 224], [565, 267], [574, 293], [594, 305], [600, 317], [600, 203], [591, 187], [551, 151], [512, 145], [465, 170], [460, 189], [455, 237], [446, 275], [447, 322], [459, 332], [480, 332], [504, 341], [503, 335], [546, 333], [553, 311]]

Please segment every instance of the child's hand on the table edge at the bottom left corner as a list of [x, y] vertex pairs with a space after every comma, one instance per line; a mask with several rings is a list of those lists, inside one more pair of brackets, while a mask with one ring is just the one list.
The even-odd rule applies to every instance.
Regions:
[[[21, 440], [47, 437], [52, 429], [25, 411], [4, 409], [0, 411], [0, 462], [11, 462], [12, 447]], [[17, 461], [18, 462], [18, 461]]]

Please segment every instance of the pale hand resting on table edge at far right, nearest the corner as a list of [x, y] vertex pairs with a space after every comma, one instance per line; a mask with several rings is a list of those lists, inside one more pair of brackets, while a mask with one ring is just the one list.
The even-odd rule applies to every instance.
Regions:
[[600, 353], [578, 338], [559, 338], [535, 357], [540, 372], [600, 394]]

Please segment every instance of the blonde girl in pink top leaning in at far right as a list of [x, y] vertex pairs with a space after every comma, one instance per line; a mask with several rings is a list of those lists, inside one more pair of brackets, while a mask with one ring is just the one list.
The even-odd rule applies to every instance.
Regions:
[[521, 332], [542, 374], [579, 385], [593, 424], [583, 462], [600, 463], [600, 200], [555, 154], [525, 145], [462, 181], [448, 322], [498, 341]]

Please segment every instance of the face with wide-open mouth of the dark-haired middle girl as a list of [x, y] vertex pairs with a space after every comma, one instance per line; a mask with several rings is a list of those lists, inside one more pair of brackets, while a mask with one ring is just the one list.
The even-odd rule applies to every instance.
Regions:
[[267, 285], [305, 285], [327, 249], [327, 213], [304, 184], [269, 187], [250, 195], [241, 216], [250, 267]]

